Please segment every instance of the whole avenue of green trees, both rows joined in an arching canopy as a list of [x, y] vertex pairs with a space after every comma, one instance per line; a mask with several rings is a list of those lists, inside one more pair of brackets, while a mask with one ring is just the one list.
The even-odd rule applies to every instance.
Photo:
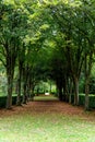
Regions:
[[[7, 108], [33, 98], [35, 85], [49, 79], [60, 100], [79, 105], [84, 78], [88, 109], [91, 74], [95, 83], [94, 0], [0, 0], [0, 69], [7, 76]], [[94, 92], [95, 93], [95, 92]], [[21, 102], [23, 94], [23, 102]]]

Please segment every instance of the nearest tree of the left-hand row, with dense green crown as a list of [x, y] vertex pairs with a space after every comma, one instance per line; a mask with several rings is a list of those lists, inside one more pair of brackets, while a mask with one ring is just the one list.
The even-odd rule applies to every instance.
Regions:
[[[25, 17], [25, 16], [24, 16]], [[24, 19], [25, 22], [26, 19]], [[15, 60], [17, 51], [20, 49], [20, 36], [23, 33], [22, 28], [22, 10], [17, 9], [15, 4], [5, 4], [3, 2], [3, 17], [1, 21], [1, 55], [3, 56], [3, 64], [7, 70], [8, 78], [8, 98], [7, 108], [11, 108], [12, 105], [12, 86], [13, 75], [15, 68]]]

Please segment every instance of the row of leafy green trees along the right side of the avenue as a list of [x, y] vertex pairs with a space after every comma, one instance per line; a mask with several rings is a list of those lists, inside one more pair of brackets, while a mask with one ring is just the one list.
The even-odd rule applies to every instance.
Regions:
[[[68, 4], [59, 2], [56, 7], [50, 8], [54, 20], [58, 25], [58, 31], [56, 31], [56, 45], [58, 46], [56, 54], [58, 57], [54, 56], [54, 63], [57, 62], [59, 67], [57, 72], [60, 72], [60, 74], [57, 76], [54, 72], [54, 78], [60, 99], [63, 99], [63, 88], [66, 99], [68, 97], [71, 102], [72, 87], [70, 88], [70, 86], [73, 84], [74, 105], [79, 105], [79, 80], [83, 72], [85, 75], [85, 109], [88, 109], [90, 75], [95, 56], [94, 8], [94, 1], [87, 0], [69, 1]], [[62, 56], [60, 56], [61, 52]]]

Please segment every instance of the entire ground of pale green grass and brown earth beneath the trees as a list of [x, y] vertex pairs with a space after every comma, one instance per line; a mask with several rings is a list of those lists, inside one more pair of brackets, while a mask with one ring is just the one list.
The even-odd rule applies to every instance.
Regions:
[[95, 142], [95, 110], [45, 98], [0, 109], [0, 142]]

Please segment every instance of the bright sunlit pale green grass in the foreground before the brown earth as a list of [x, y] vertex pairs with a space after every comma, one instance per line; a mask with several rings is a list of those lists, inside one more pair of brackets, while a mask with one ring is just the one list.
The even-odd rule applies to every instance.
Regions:
[[57, 114], [0, 118], [0, 142], [94, 142], [95, 122]]

